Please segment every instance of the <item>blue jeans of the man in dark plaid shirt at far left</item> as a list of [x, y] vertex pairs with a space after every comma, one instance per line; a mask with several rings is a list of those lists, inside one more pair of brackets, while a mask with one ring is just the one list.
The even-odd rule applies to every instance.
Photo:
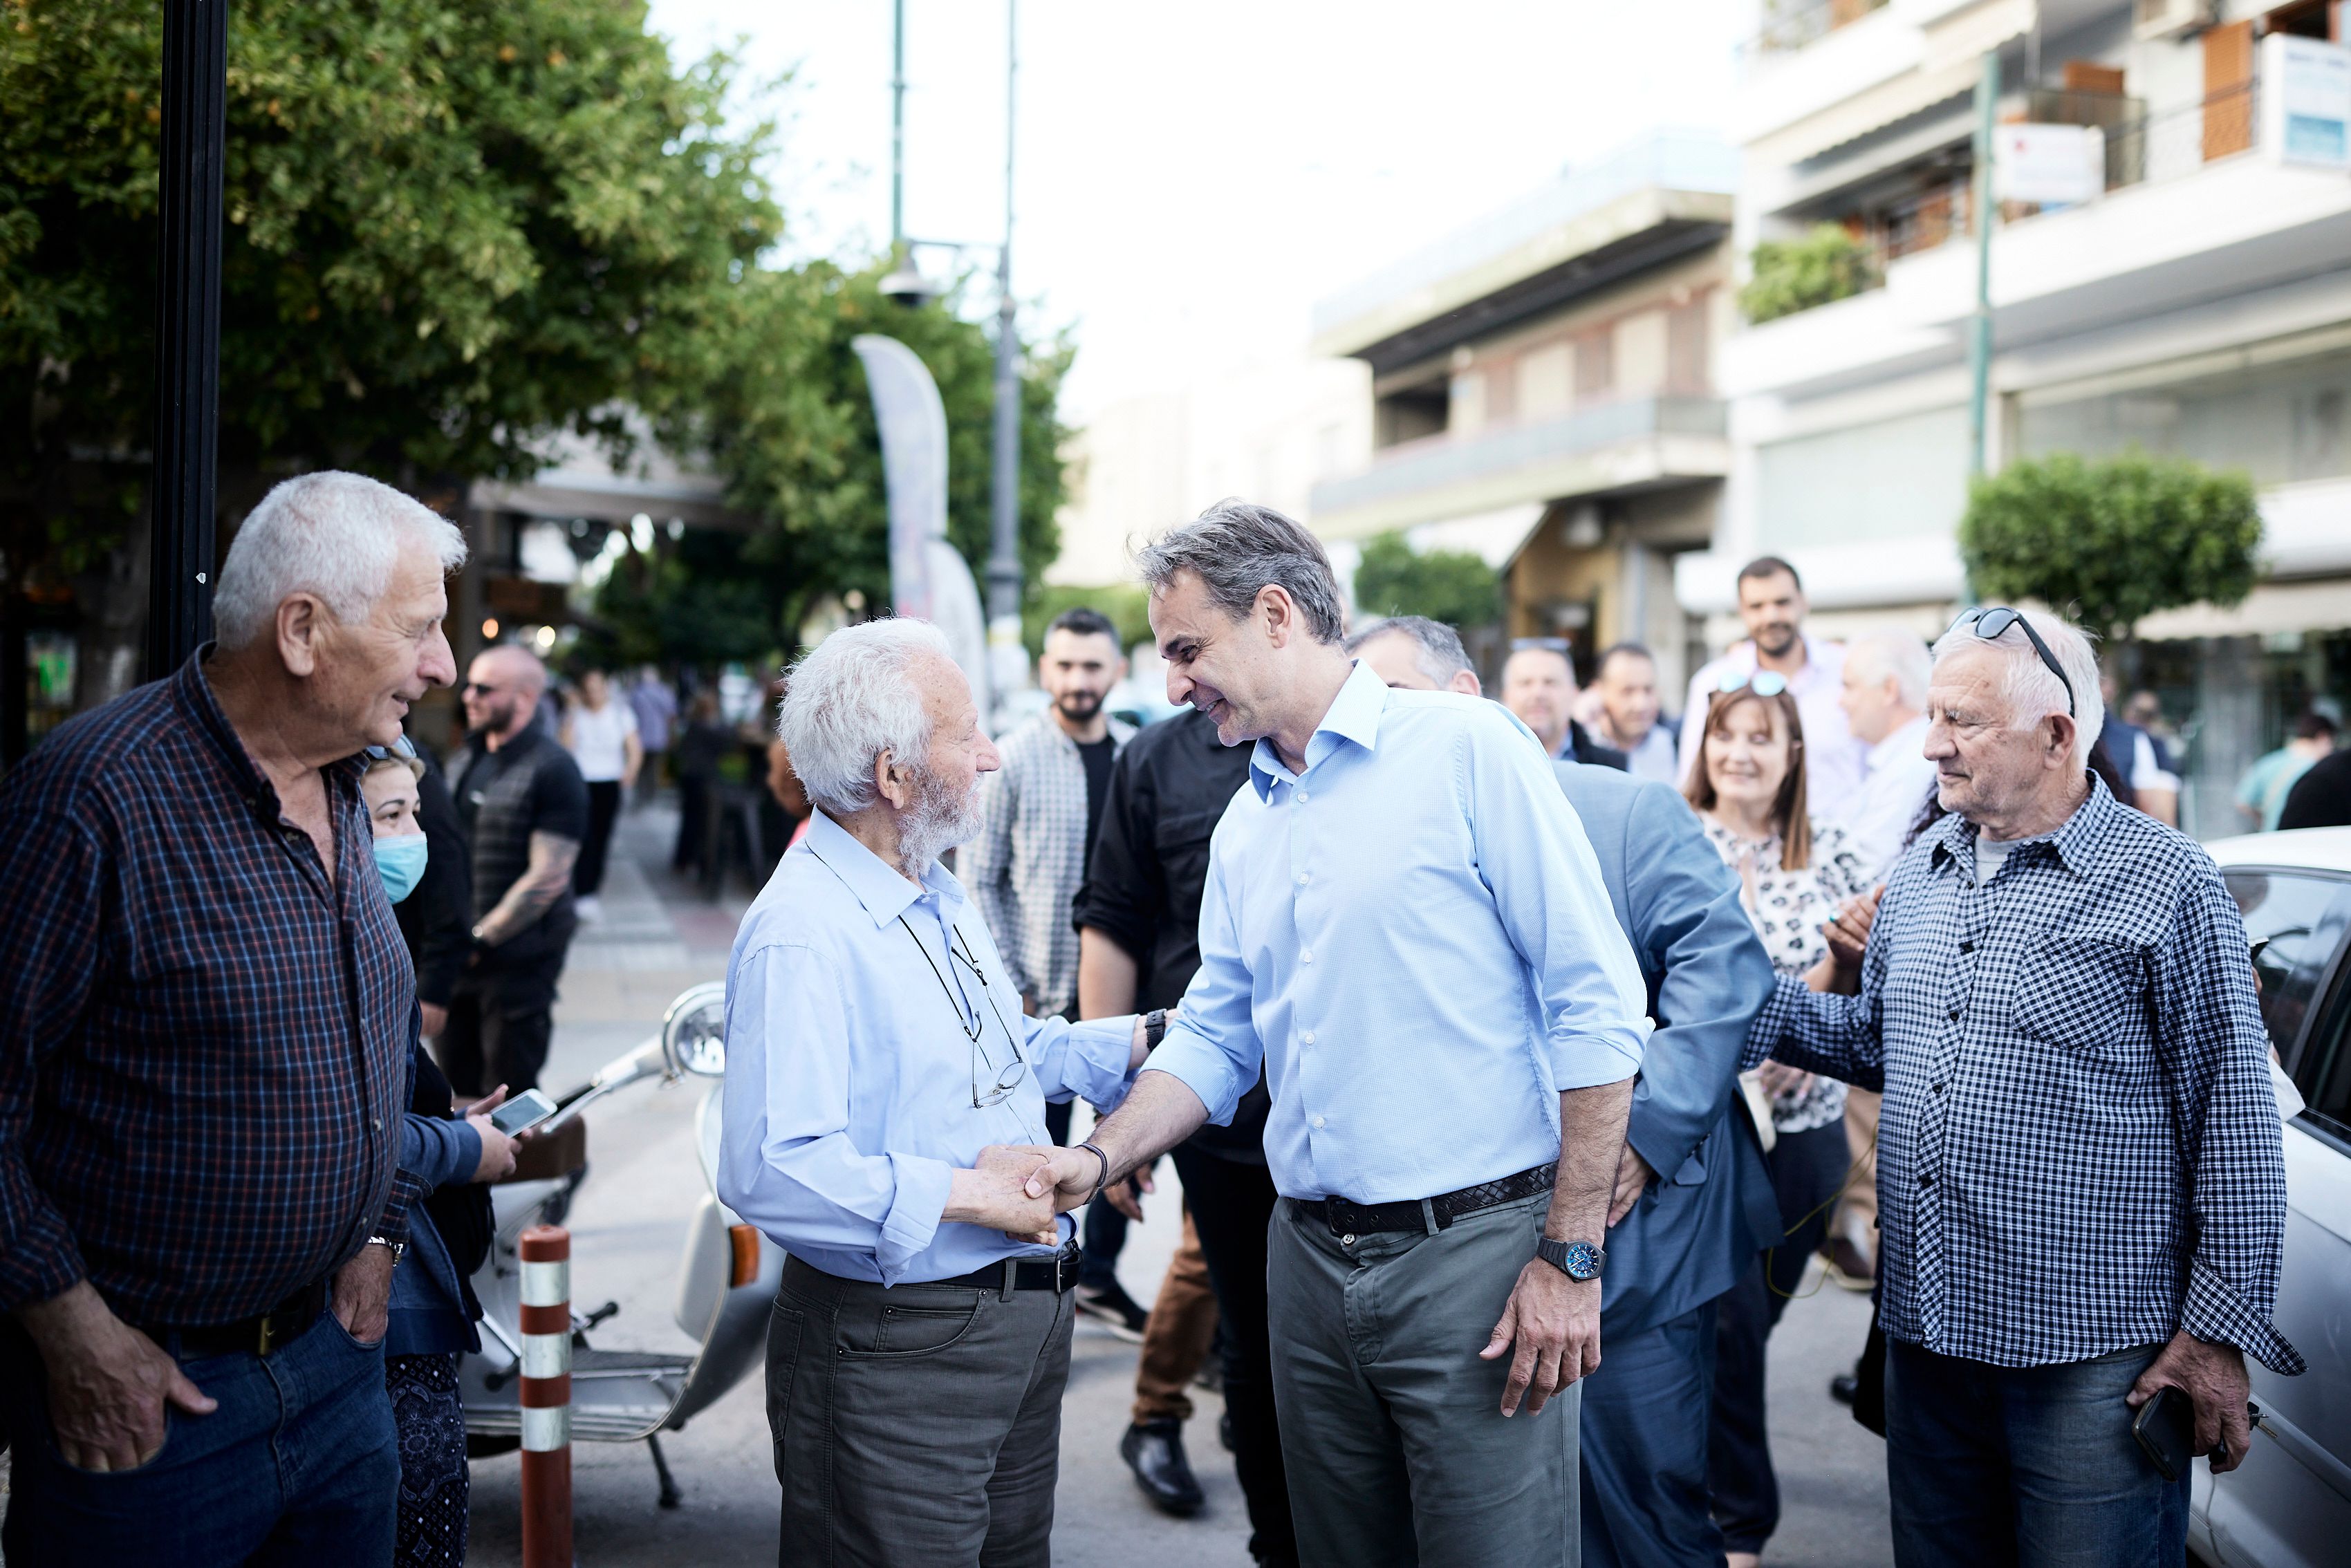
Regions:
[[162, 1453], [139, 1469], [94, 1474], [56, 1450], [33, 1342], [0, 1333], [0, 1420], [14, 1458], [0, 1533], [9, 1568], [390, 1561], [400, 1441], [381, 1342], [360, 1345], [327, 1312], [268, 1359], [195, 1356], [181, 1371], [221, 1408], [169, 1408]]

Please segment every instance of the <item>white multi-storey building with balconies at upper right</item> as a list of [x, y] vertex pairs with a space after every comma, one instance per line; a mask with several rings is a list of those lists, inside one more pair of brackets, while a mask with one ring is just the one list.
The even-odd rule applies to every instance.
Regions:
[[1721, 355], [1733, 465], [1681, 604], [1735, 635], [1733, 574], [1803, 569], [1827, 630], [1937, 630], [1965, 592], [1972, 92], [1998, 120], [2097, 127], [2085, 200], [1991, 216], [1987, 465], [2128, 447], [2250, 470], [2269, 578], [2142, 623], [2125, 684], [2184, 733], [2186, 825], [2313, 701], [2351, 691], [2351, 66], [2332, 0], [1766, 2], [1742, 47], [1733, 244], [1836, 226], [1846, 299]]

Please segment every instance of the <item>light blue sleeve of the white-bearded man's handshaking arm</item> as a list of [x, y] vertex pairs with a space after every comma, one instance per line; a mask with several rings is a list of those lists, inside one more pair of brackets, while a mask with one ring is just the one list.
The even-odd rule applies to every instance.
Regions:
[[849, 1140], [849, 1001], [820, 952], [776, 943], [736, 961], [717, 1190], [788, 1251], [872, 1253], [889, 1286], [931, 1246], [955, 1166]]

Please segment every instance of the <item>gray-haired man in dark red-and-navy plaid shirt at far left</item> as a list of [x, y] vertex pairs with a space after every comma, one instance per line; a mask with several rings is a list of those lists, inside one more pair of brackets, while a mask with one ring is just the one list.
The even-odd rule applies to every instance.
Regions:
[[383, 1563], [416, 976], [362, 752], [456, 679], [454, 527], [320, 473], [207, 644], [0, 790], [9, 1563]]

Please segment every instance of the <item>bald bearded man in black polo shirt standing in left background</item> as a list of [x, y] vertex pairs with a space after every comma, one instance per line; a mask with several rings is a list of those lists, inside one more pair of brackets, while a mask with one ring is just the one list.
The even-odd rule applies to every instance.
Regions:
[[435, 1041], [461, 1095], [538, 1084], [578, 931], [571, 863], [588, 839], [588, 783], [534, 722], [545, 689], [538, 656], [501, 644], [475, 656], [461, 693], [468, 738], [449, 795], [473, 856], [473, 952]]

